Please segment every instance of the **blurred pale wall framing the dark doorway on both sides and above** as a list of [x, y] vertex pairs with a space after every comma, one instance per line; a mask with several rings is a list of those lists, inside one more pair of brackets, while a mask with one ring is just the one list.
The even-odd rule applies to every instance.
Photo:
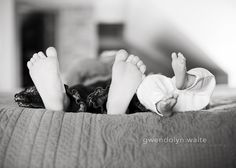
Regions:
[[[16, 92], [21, 85], [18, 42], [19, 17], [32, 11], [57, 14], [56, 45], [62, 73], [80, 57], [97, 56], [96, 27], [91, 1], [0, 0], [0, 92]], [[16, 11], [18, 12], [17, 19]], [[20, 12], [19, 12], [20, 11]]]

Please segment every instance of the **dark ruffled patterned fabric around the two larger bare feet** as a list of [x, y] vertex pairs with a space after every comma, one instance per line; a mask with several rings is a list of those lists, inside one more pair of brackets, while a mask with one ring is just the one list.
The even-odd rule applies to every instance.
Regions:
[[[68, 87], [65, 85], [66, 93], [70, 99], [70, 105], [67, 111], [106, 114], [109, 87], [110, 80], [99, 81], [89, 86], [78, 84], [73, 87]], [[43, 101], [35, 86], [26, 88], [24, 91], [17, 93], [15, 95], [15, 101], [20, 107], [44, 108]], [[147, 110], [138, 101], [135, 95], [131, 100], [127, 113], [143, 111]]]

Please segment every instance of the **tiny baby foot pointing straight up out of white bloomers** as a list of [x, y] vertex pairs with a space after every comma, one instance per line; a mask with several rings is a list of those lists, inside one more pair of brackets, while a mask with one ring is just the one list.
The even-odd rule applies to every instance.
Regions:
[[184, 89], [186, 78], [187, 78], [187, 68], [186, 68], [186, 59], [183, 54], [172, 53], [172, 68], [175, 74], [175, 83], [177, 89]]

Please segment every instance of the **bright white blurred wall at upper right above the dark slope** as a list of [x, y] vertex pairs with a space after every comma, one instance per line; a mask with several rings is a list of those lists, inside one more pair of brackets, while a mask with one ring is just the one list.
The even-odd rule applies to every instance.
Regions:
[[[205, 53], [209, 58], [203, 55], [203, 62], [211, 59], [223, 68], [229, 74], [230, 85], [236, 87], [235, 1], [130, 0], [129, 3], [126, 32], [129, 40], [150, 46], [154, 45], [154, 41], [161, 43], [163, 33], [166, 33], [169, 42], [177, 44], [180, 40], [179, 43], [189, 45], [194, 52], [199, 50], [198, 55]], [[179, 35], [177, 38], [176, 34]]]

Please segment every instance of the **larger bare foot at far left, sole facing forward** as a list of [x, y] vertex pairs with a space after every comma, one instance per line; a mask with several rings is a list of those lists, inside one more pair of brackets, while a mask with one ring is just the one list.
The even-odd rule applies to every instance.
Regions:
[[64, 110], [68, 104], [68, 97], [62, 83], [59, 63], [55, 48], [49, 47], [46, 51], [38, 52], [28, 61], [30, 76], [49, 110]]

